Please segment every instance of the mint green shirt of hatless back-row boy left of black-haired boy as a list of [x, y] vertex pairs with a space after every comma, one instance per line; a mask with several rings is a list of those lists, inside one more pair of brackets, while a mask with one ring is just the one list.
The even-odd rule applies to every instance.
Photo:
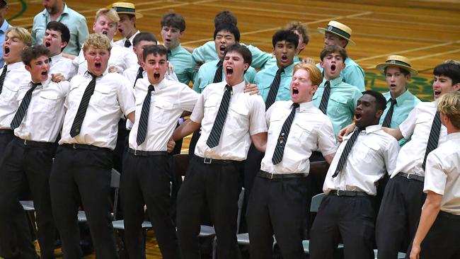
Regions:
[[193, 81], [195, 76], [195, 62], [192, 54], [185, 50], [180, 44], [168, 52], [168, 60], [173, 64], [174, 71], [180, 83], [187, 84]]

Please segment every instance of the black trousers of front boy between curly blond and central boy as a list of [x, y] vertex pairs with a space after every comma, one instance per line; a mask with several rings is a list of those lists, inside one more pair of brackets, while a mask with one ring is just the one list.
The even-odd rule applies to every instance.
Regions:
[[179, 258], [176, 226], [171, 219], [171, 156], [134, 156], [123, 162], [120, 186], [125, 212], [125, 245], [130, 258], [146, 258], [142, 221], [144, 205], [154, 227], [163, 258]]

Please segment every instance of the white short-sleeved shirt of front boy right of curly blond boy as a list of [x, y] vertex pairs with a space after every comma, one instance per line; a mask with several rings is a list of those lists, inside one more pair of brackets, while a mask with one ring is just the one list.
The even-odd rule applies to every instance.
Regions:
[[138, 79], [134, 88], [136, 120], [130, 132], [130, 148], [142, 151], [166, 151], [168, 139], [176, 129], [184, 110], [191, 112], [199, 94], [178, 81], [163, 79], [151, 92], [149, 120], [144, 143], [137, 146], [137, 130], [142, 105], [150, 86], [149, 79]]

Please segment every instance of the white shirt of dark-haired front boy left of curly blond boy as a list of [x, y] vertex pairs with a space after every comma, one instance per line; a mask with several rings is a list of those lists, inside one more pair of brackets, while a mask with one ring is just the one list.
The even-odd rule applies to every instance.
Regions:
[[[32, 83], [23, 84], [18, 89], [21, 103]], [[64, 100], [69, 92], [69, 81], [54, 83], [51, 78], [42, 81], [32, 92], [27, 113], [21, 125], [14, 129], [16, 137], [34, 142], [55, 142], [64, 122]]]

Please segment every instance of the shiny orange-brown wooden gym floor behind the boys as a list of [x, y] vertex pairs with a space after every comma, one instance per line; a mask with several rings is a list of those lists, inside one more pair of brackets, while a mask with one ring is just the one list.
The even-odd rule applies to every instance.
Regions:
[[[121, 1], [121, 0], [120, 0]], [[182, 45], [197, 47], [212, 40], [214, 15], [230, 10], [238, 17], [241, 42], [271, 52], [272, 34], [289, 21], [301, 21], [311, 33], [309, 45], [302, 57], [317, 62], [323, 48], [323, 35], [317, 27], [335, 20], [352, 28], [357, 43], [347, 52], [366, 71], [366, 86], [386, 91], [384, 76], [374, 69], [389, 54], [402, 54], [413, 61], [420, 74], [408, 87], [422, 100], [432, 100], [432, 69], [446, 59], [460, 60], [460, 1], [459, 0], [156, 0], [132, 1], [144, 18], [137, 20], [137, 28], [151, 31], [161, 40], [160, 19], [167, 11], [183, 15], [187, 28]], [[111, 1], [69, 0], [67, 4], [79, 11], [88, 21], [90, 33], [94, 14]], [[42, 11], [40, 0], [10, 0], [8, 22], [31, 28], [33, 17]], [[188, 144], [185, 144], [188, 146]], [[186, 151], [186, 149], [183, 149]], [[151, 236], [151, 235], [150, 235]], [[154, 238], [147, 242], [147, 258], [161, 258]], [[88, 257], [94, 258], [94, 256]]]

